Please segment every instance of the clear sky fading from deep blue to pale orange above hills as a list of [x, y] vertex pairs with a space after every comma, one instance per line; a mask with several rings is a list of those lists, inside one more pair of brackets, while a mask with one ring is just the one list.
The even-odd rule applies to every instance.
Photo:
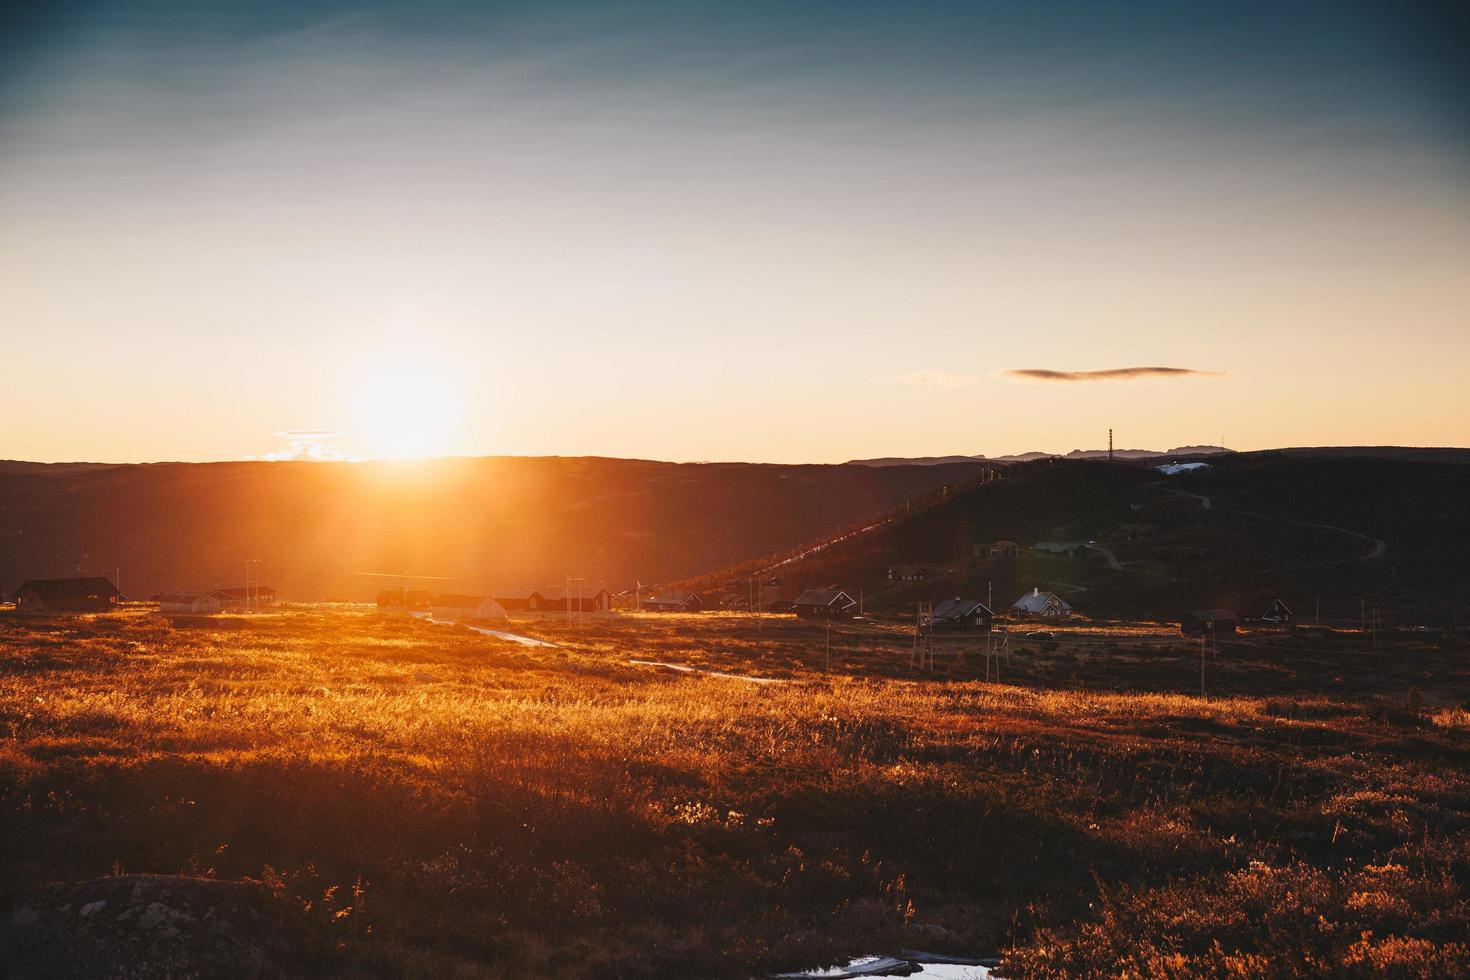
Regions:
[[1470, 445], [1464, 4], [18, 6], [0, 458]]

